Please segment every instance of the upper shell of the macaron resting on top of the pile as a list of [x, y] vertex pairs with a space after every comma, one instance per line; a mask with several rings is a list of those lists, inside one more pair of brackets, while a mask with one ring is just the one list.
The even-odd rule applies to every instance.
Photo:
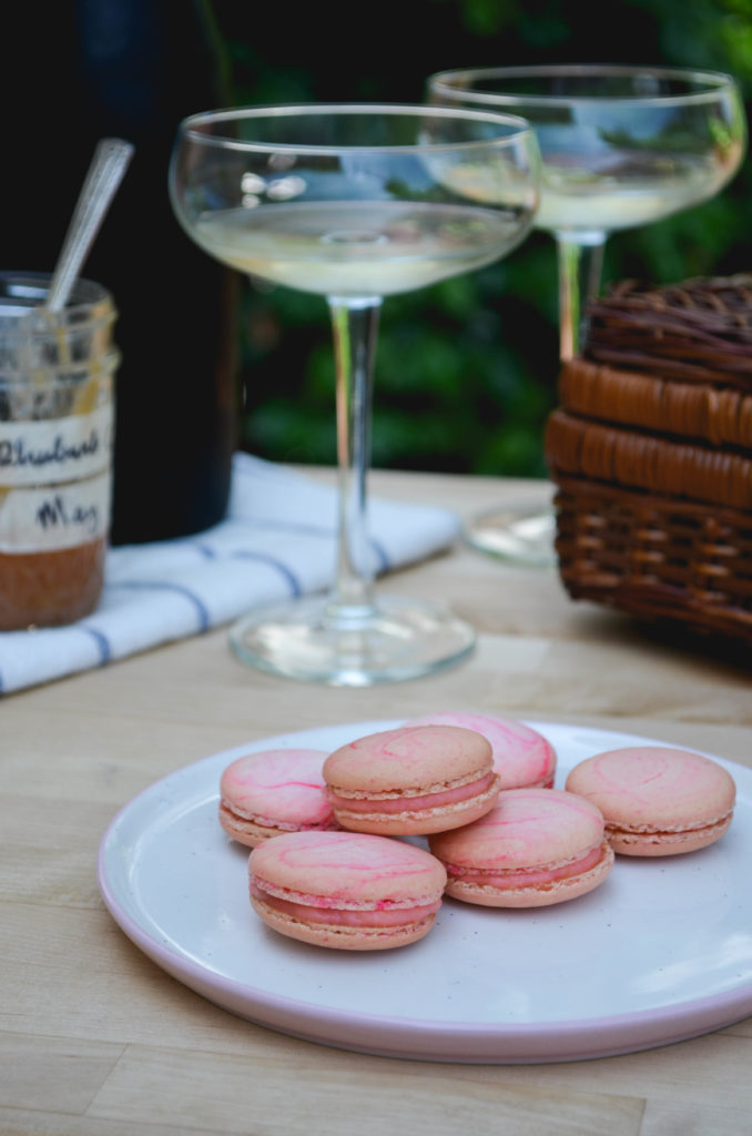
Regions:
[[457, 726], [401, 726], [357, 738], [324, 762], [335, 791], [364, 794], [437, 792], [493, 765], [491, 743]]

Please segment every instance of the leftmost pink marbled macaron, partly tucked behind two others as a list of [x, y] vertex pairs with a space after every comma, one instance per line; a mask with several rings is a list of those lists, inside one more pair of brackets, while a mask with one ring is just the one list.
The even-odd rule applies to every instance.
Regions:
[[219, 782], [219, 822], [254, 847], [300, 829], [339, 828], [326, 793], [324, 750], [262, 750], [237, 758]]

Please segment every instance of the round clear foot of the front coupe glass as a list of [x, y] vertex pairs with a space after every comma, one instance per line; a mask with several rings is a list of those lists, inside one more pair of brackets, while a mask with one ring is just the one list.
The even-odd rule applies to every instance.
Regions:
[[314, 596], [260, 608], [231, 629], [242, 662], [273, 675], [332, 686], [370, 686], [429, 675], [459, 662], [475, 632], [444, 608], [379, 596], [375, 608], [335, 611]]

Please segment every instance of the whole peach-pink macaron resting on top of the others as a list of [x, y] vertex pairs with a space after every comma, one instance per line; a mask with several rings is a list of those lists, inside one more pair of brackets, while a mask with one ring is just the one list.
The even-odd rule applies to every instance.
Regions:
[[402, 726], [357, 738], [324, 762], [343, 828], [410, 836], [457, 828], [499, 795], [490, 742], [458, 726]]

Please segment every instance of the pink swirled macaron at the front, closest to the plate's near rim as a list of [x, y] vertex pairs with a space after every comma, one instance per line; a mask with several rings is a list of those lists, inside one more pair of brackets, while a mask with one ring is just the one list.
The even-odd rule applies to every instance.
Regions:
[[344, 951], [423, 938], [446, 872], [424, 849], [362, 833], [289, 833], [249, 858], [251, 903], [282, 935]]

